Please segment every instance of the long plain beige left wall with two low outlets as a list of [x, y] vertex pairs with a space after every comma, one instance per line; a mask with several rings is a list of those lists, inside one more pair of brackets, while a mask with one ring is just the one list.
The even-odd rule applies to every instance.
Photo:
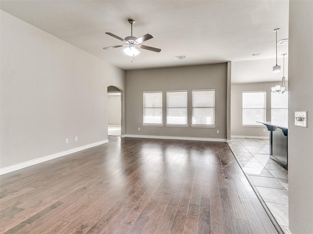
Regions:
[[125, 72], [0, 15], [0, 167], [106, 140], [107, 87], [124, 89]]

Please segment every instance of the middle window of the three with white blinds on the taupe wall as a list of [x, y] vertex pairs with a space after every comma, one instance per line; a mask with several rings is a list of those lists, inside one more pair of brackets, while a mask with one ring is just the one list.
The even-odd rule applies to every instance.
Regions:
[[187, 126], [187, 90], [166, 92], [167, 125]]

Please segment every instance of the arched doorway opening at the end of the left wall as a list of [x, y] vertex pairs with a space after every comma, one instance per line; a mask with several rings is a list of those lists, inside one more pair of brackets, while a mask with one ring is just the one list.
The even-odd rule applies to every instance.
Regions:
[[108, 87], [108, 136], [121, 136], [121, 91]]

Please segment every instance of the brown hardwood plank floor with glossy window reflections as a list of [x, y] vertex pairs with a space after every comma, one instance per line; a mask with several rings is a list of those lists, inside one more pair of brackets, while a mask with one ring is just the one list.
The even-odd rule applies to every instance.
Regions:
[[277, 233], [226, 143], [109, 140], [0, 176], [0, 233]]

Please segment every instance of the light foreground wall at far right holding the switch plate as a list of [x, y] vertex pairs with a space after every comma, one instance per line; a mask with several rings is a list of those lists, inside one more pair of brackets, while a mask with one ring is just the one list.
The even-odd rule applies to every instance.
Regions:
[[[313, 1], [289, 7], [289, 229], [313, 232]], [[308, 111], [308, 128], [294, 126], [294, 112]]]

